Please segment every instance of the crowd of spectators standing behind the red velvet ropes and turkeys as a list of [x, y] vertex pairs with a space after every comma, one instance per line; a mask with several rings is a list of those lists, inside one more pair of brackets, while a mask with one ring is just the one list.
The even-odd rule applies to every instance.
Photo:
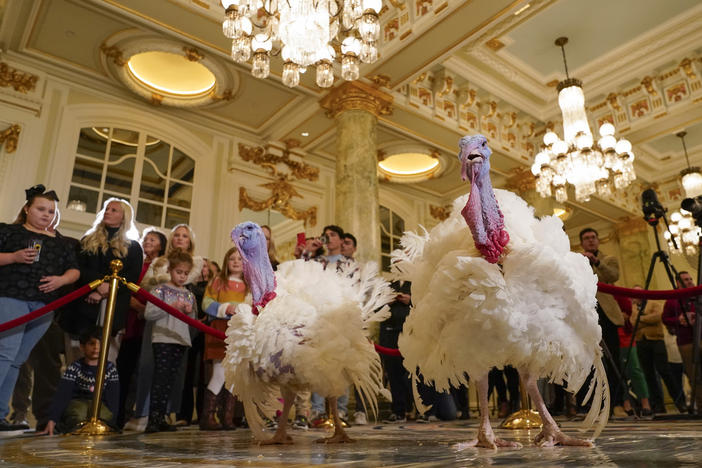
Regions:
[[[236, 305], [251, 300], [235, 247], [225, 253], [221, 264], [197, 256], [195, 234], [186, 224], [175, 226], [168, 235], [148, 228], [140, 242], [132, 240], [139, 237], [134, 212], [129, 203], [117, 198], [105, 201], [80, 240], [72, 239], [57, 230], [57, 202], [53, 191], [47, 192], [41, 185], [32, 187], [26, 191], [26, 203], [17, 219], [0, 224], [0, 323], [103, 278], [110, 273], [113, 259], [122, 261], [120, 275], [128, 281], [220, 331], [226, 330]], [[268, 226], [263, 230], [269, 259], [276, 269], [272, 232]], [[599, 281], [617, 281], [617, 260], [599, 250], [597, 232], [583, 230], [580, 241]], [[299, 240], [294, 256], [343, 271], [353, 268], [356, 249], [351, 233], [330, 225], [319, 237]], [[680, 272], [678, 279], [682, 287], [693, 285], [687, 272]], [[410, 312], [411, 285], [394, 282], [391, 286], [397, 295], [390, 304], [390, 318], [380, 324], [378, 341], [381, 346], [397, 348]], [[39, 432], [69, 431], [86, 418], [108, 292], [108, 284], [103, 283], [84, 298], [0, 333], [0, 430], [29, 429], [30, 402]], [[662, 379], [675, 405], [684, 411], [682, 376], [685, 373], [691, 378], [693, 374], [692, 302], [630, 301], [602, 293], [597, 300], [603, 360], [614, 405], [621, 406], [625, 416], [634, 416], [636, 411], [643, 417], [665, 412]], [[666, 343], [664, 327], [677, 337], [677, 346]], [[193, 423], [202, 430], [246, 425], [241, 404], [225, 386], [223, 341], [189, 327], [151, 303], [142, 303], [127, 288], [120, 288], [117, 294], [110, 340], [100, 417], [116, 428], [157, 432]], [[418, 421], [469, 417], [466, 387], [438, 393], [423, 382], [419, 395], [431, 409], [416, 414], [402, 358], [383, 355], [382, 363], [392, 394], [391, 413], [385, 423], [404, 422], [409, 415]], [[697, 377], [702, 380], [699, 372]], [[497, 394], [497, 416], [519, 409], [519, 375], [514, 368], [493, 369], [489, 380], [490, 390], [494, 388]], [[582, 410], [585, 390], [576, 396], [554, 386], [551, 411], [576, 416]], [[347, 391], [337, 399], [342, 420], [367, 424], [361, 399], [354, 397], [351, 414], [349, 397]], [[326, 404], [320, 395], [299, 394], [293, 427], [324, 426], [328, 420]], [[702, 408], [702, 388], [697, 407]], [[270, 408], [262, 409], [271, 426], [279, 408], [280, 402], [274, 401]], [[175, 421], [169, 421], [171, 413], [176, 415]]]

